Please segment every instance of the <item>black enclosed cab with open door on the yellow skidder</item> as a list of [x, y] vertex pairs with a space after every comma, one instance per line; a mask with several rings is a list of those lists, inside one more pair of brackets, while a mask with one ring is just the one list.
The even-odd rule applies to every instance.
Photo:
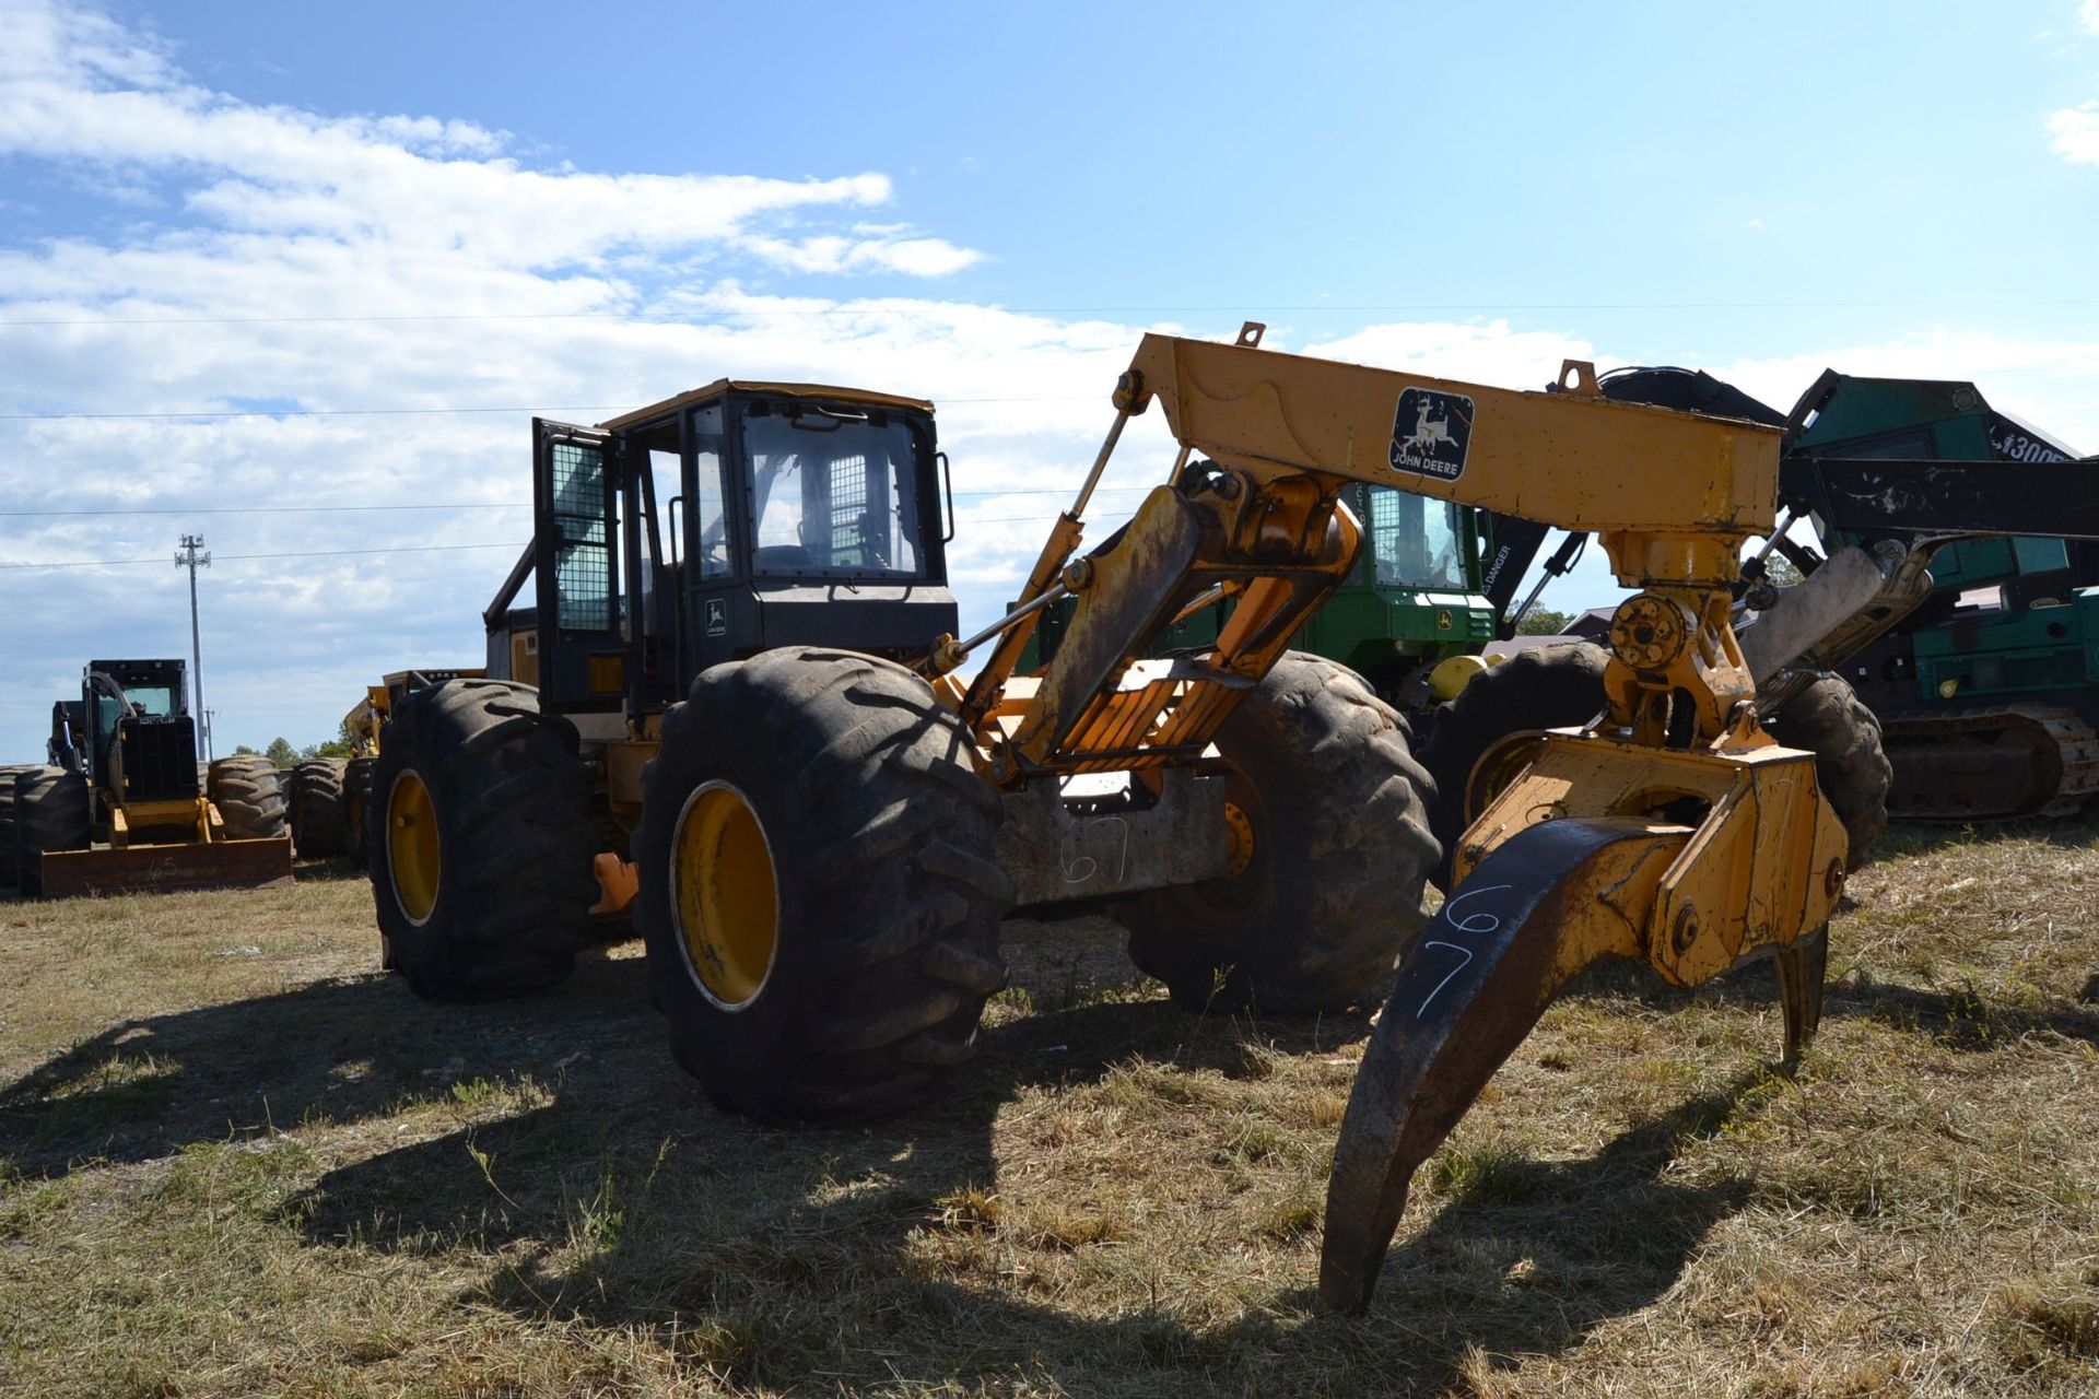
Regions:
[[924, 650], [955, 631], [942, 468], [930, 403], [856, 388], [718, 380], [596, 428], [533, 419], [533, 547], [485, 615], [489, 673], [642, 715], [779, 646]]

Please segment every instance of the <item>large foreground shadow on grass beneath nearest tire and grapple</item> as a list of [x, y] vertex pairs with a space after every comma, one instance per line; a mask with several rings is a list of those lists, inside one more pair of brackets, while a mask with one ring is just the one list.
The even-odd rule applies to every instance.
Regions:
[[[1070, 992], [1058, 969], [1018, 980], [1037, 1005]], [[552, 1059], [573, 1040], [556, 1028], [523, 1066], [554, 1084], [548, 1103], [340, 1166], [285, 1219], [315, 1246], [479, 1252], [487, 1273], [462, 1303], [529, 1323], [644, 1330], [737, 1384], [1037, 1376], [1070, 1393], [1383, 1395], [1436, 1393], [1473, 1351], [1581, 1342], [1667, 1292], [1746, 1200], [1742, 1183], [1685, 1187], [1662, 1172], [1685, 1137], [1740, 1114], [1761, 1076], [1591, 1160], [1497, 1162], [1402, 1235], [1360, 1321], [1316, 1315], [1312, 1233], [1280, 1250], [1268, 1300], [1222, 1323], [1167, 1300], [1184, 1294], [1173, 1279], [1150, 1305], [1087, 1317], [1031, 1286], [1024, 1256], [1014, 1265], [1031, 1244], [1001, 1235], [993, 1198], [1003, 1103], [1098, 1082], [1133, 1057], [1253, 1078], [1270, 1049], [1331, 1053], [1360, 1032], [1264, 1024], [1251, 1053], [1224, 1017], [1159, 1000], [1079, 1005], [995, 1030], [976, 1063], [903, 1118], [793, 1133], [697, 1101], [653, 1015], [560, 1070]], [[1173, 1177], [1163, 1160], [1159, 1185]], [[1110, 1250], [1112, 1267], [1146, 1271], [1140, 1231], [1058, 1248]]]

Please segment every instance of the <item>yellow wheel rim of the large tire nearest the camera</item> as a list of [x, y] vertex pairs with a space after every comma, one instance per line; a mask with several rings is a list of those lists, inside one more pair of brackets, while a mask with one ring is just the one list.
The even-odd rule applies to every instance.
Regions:
[[724, 1011], [758, 1000], [779, 952], [779, 879], [758, 812], [728, 782], [701, 782], [670, 839], [670, 906], [699, 990]]

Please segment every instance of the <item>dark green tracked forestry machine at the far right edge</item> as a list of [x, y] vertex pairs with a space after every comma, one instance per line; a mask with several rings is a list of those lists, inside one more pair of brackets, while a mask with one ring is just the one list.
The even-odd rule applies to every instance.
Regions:
[[[1790, 413], [1685, 369], [1604, 375], [1625, 401], [1725, 411], [1786, 432], [1788, 451], [1856, 461], [1830, 495], [1824, 480], [1786, 487], [1788, 522], [1809, 522], [1824, 552], [1784, 531], [1769, 552], [1814, 575], [1847, 547], [1902, 541], [1897, 621], [1860, 619], [1820, 663], [1845, 675], [1879, 717], [1893, 763], [1891, 816], [1998, 820], [2070, 816], [2099, 793], [2099, 457], [1992, 409], [1965, 380], [1822, 375]], [[1933, 472], [1872, 461], [1990, 464], [1977, 495]], [[1837, 472], [1837, 468], [1830, 468]], [[1954, 480], [1950, 472], [1942, 472]], [[1963, 476], [1963, 480], [1967, 480]], [[2007, 535], [2002, 524], [2059, 529]], [[1769, 598], [1763, 564], [1744, 600]], [[1744, 636], [1748, 629], [1744, 629]]]

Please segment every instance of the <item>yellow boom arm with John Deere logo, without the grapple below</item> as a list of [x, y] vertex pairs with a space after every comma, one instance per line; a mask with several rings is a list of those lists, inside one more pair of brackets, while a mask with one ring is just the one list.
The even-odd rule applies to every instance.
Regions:
[[[1157, 399], [1182, 447], [1175, 474], [1077, 562], [1081, 524], [1075, 512], [1060, 520], [1020, 598], [1079, 594], [1056, 659], [1012, 677], [1035, 623], [1016, 612], [961, 703], [993, 780], [1199, 757], [1354, 562], [1360, 529], [1341, 503], [1352, 480], [1595, 531], [1620, 581], [1650, 587], [1627, 615], [1629, 638], [1683, 642], [1669, 657], [1648, 646], [1658, 659], [1646, 680], [1618, 675], [1620, 719], [1658, 736], [1671, 696], [1685, 694], [1698, 732], [1719, 736], [1751, 690], [1725, 589], [1740, 543], [1774, 524], [1776, 428], [1614, 403], [1587, 365], [1564, 367], [1564, 392], [1515, 392], [1257, 346], [1251, 325], [1230, 346], [1138, 346], [1115, 396], [1117, 434]], [[1209, 657], [1140, 661], [1159, 629], [1220, 596], [1238, 606]]]

